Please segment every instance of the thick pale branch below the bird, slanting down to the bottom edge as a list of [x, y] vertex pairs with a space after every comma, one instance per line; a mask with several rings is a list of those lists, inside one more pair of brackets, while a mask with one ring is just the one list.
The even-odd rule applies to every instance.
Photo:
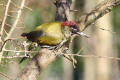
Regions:
[[37, 80], [37, 76], [52, 63], [56, 55], [53, 51], [42, 49], [23, 69], [16, 80]]

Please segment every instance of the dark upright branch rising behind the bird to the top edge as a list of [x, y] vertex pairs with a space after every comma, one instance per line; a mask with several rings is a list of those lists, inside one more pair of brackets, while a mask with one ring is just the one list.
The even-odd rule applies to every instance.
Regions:
[[55, 21], [69, 20], [71, 0], [56, 0], [54, 4], [56, 6]]

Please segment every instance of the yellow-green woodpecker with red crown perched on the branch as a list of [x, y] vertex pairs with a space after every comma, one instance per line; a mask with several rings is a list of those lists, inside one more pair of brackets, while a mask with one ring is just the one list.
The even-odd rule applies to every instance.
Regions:
[[38, 43], [40, 46], [57, 46], [59, 49], [74, 34], [88, 37], [80, 32], [75, 21], [46, 22], [31, 32], [22, 33], [21, 36], [27, 38], [28, 41]]

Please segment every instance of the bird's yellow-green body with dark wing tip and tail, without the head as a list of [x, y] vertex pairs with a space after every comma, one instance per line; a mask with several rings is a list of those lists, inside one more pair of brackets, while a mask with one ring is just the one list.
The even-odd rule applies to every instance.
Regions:
[[45, 45], [56, 45], [63, 40], [61, 22], [48, 22], [38, 26], [34, 31], [23, 33], [28, 40]]

